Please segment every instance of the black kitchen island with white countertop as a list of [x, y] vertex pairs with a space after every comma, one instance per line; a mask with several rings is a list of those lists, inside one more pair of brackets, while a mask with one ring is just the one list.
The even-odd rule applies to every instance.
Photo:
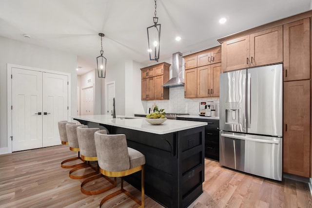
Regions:
[[[111, 115], [72, 117], [90, 128], [123, 133], [128, 146], [145, 155], [145, 194], [168, 208], [185, 208], [201, 193], [204, 182], [205, 122], [167, 120], [151, 125], [144, 118]], [[125, 177], [140, 189], [141, 172]]]

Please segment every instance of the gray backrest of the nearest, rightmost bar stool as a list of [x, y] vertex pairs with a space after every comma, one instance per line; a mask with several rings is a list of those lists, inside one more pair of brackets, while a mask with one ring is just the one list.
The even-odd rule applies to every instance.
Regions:
[[130, 169], [130, 159], [126, 135], [105, 134], [105, 130], [95, 132], [98, 165], [107, 171]]

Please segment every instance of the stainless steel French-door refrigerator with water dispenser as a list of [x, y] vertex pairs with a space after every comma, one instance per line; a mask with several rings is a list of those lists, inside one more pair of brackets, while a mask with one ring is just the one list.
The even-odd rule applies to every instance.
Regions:
[[282, 64], [220, 75], [220, 164], [282, 180]]

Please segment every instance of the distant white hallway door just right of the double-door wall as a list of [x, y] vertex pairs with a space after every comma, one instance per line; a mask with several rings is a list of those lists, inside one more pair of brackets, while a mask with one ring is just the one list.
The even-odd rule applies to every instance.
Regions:
[[94, 88], [93, 86], [82, 89], [82, 115], [93, 115], [94, 109]]

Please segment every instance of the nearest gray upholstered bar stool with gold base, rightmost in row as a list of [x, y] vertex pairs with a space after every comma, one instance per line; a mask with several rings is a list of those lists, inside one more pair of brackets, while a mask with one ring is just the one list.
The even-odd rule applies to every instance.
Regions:
[[139, 208], [144, 208], [145, 156], [141, 152], [127, 146], [126, 135], [124, 134], [105, 134], [104, 131], [100, 130], [95, 132], [95, 143], [98, 165], [103, 175], [123, 177], [141, 170], [141, 201], [123, 189], [123, 179], [121, 178], [121, 189], [104, 197], [99, 207], [114, 196], [125, 193], [140, 205]]

